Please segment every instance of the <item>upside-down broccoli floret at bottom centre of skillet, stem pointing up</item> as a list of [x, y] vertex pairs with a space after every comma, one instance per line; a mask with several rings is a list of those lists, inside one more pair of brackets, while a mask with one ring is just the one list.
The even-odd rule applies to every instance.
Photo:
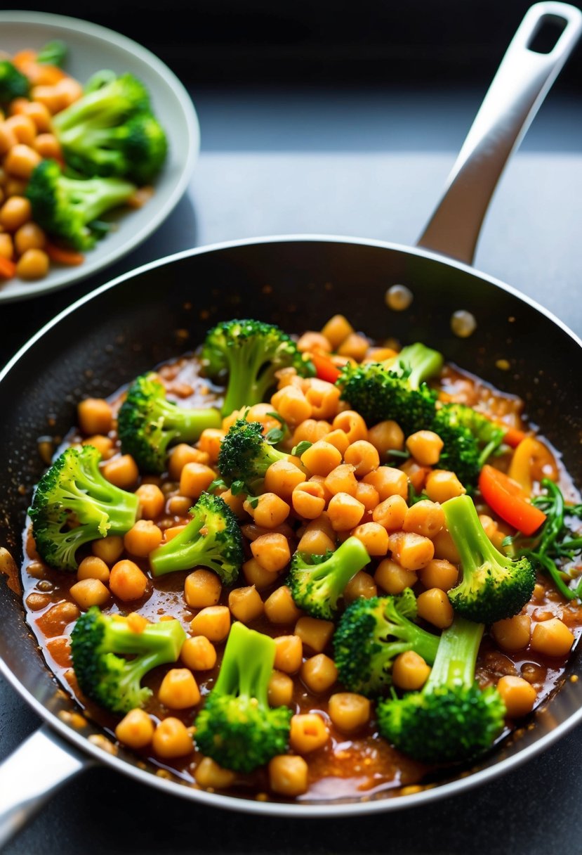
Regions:
[[269, 635], [233, 623], [218, 679], [195, 718], [196, 747], [224, 769], [252, 772], [287, 750], [292, 711], [267, 699], [274, 661]]

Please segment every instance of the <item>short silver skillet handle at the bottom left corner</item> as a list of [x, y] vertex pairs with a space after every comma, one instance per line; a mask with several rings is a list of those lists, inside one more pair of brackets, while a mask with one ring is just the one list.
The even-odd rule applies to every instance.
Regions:
[[0, 765], [0, 847], [65, 781], [93, 764], [46, 725], [29, 736]]

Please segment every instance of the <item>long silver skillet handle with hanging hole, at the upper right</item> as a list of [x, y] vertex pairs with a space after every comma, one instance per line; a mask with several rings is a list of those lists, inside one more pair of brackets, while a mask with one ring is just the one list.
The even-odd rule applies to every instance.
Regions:
[[[563, 26], [550, 53], [531, 49], [544, 24]], [[475, 116], [443, 198], [417, 245], [471, 264], [499, 177], [582, 32], [582, 11], [547, 0], [528, 9]]]

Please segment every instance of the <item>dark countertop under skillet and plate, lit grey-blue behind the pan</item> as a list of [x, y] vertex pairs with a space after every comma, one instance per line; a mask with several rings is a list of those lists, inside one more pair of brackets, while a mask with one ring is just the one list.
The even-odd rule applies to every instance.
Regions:
[[[99, 277], [46, 298], [3, 305], [0, 364], [55, 311], [102, 281], [193, 245], [276, 233], [414, 244], [481, 95], [442, 93], [435, 103], [420, 91], [387, 101], [356, 91], [342, 97], [194, 91], [202, 151], [182, 202], [144, 245]], [[387, 108], [389, 114], [379, 113]], [[558, 93], [540, 110], [503, 174], [475, 267], [537, 299], [582, 335], [579, 103], [576, 109]], [[38, 724], [0, 680], [0, 760]], [[578, 855], [581, 763], [582, 729], [575, 728], [538, 758], [454, 799], [387, 816], [293, 824], [209, 810], [110, 769], [90, 769], [65, 785], [3, 852]], [[550, 822], [542, 822], [542, 806]]]

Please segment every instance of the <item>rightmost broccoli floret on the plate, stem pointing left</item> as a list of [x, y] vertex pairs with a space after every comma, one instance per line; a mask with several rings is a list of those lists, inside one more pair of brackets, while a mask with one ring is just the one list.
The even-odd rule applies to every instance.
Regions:
[[145, 110], [113, 127], [90, 116], [58, 134], [67, 164], [79, 173], [149, 184], [166, 161], [168, 140], [156, 117]]

